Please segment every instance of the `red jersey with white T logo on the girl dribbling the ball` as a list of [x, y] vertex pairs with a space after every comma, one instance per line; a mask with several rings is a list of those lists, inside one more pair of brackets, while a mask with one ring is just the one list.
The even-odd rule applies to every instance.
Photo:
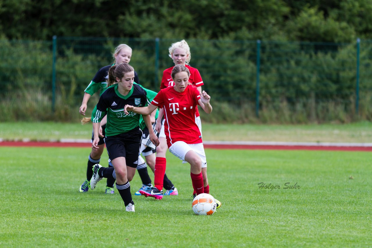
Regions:
[[188, 85], [183, 92], [167, 87], [160, 90], [151, 102], [164, 109], [164, 131], [167, 145], [170, 147], [176, 141], [187, 144], [202, 143], [202, 136], [195, 123], [196, 106], [200, 99], [199, 90]]

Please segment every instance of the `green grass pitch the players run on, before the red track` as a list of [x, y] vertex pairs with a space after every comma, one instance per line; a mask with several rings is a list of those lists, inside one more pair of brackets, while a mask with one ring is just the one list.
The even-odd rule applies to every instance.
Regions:
[[[117, 191], [103, 194], [105, 179], [79, 193], [89, 152], [0, 147], [1, 247], [372, 245], [369, 152], [206, 149], [210, 193], [222, 202], [212, 216], [193, 214], [189, 167], [171, 154], [167, 174], [179, 196], [133, 196], [136, 212], [127, 213]], [[132, 194], [140, 186], [135, 175]]]

